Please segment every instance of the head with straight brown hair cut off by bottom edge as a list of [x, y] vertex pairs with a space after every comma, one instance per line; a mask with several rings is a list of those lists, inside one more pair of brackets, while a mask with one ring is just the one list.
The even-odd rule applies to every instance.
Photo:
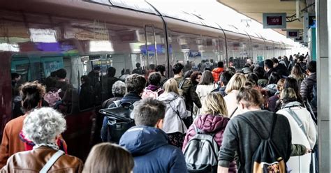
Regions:
[[130, 173], [134, 160], [131, 153], [117, 144], [96, 144], [89, 152], [83, 172]]

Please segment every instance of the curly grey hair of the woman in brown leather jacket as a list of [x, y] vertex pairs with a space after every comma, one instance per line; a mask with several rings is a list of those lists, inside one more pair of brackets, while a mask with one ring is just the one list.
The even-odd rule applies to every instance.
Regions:
[[64, 130], [64, 116], [51, 107], [36, 109], [24, 119], [23, 134], [34, 144], [52, 144]]

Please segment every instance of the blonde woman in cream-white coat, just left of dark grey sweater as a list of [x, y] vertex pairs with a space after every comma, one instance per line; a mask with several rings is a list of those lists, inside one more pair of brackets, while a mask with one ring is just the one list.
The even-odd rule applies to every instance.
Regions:
[[245, 86], [247, 78], [245, 75], [241, 73], [236, 73], [231, 77], [228, 85], [226, 85], [226, 93], [227, 95], [224, 97], [226, 100], [226, 107], [228, 108], [228, 117], [231, 119], [233, 116], [237, 114], [241, 114], [240, 110], [238, 109], [237, 104], [237, 95], [239, 90]]

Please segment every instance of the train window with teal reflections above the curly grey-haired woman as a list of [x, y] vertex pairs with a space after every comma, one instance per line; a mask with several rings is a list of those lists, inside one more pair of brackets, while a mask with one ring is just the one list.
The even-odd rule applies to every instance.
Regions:
[[[64, 69], [61, 70], [61, 74], [54, 73], [59, 69]], [[61, 98], [61, 100], [52, 100], [52, 103], [50, 101], [47, 103], [47, 101], [43, 100], [43, 105], [54, 107], [64, 114], [71, 114], [72, 107], [74, 106], [73, 93], [77, 91], [77, 88], [71, 84], [71, 81], [73, 81], [71, 80], [73, 79], [71, 57], [13, 57], [11, 61], [11, 73], [21, 75], [21, 80], [13, 85], [13, 98], [17, 98], [18, 86], [20, 84], [38, 81], [45, 84], [47, 93], [58, 93]], [[53, 77], [51, 77], [51, 73]], [[15, 101], [13, 105], [15, 109]], [[22, 112], [13, 111], [14, 117], [20, 114]]]

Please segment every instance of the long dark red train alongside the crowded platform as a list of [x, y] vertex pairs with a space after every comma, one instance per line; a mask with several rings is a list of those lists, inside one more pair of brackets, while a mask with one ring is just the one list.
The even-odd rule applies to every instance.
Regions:
[[[64, 68], [66, 80], [79, 89], [80, 77], [96, 66], [103, 76], [112, 66], [120, 77], [136, 63], [147, 71], [163, 65], [171, 77], [177, 62], [192, 69], [204, 60], [240, 68], [246, 59], [284, 55], [291, 47], [194, 14], [165, 13], [148, 1], [11, 0], [0, 2], [0, 14], [0, 139], [13, 118], [11, 73], [20, 74], [22, 83], [44, 82]], [[78, 92], [71, 95], [63, 137], [68, 153], [84, 159], [100, 142], [101, 103], [81, 109]]]

